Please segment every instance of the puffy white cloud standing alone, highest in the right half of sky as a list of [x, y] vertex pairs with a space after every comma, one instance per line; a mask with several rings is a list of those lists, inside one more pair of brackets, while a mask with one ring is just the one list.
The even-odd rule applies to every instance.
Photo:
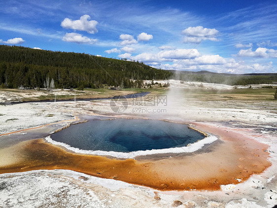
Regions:
[[197, 27], [188, 27], [187, 29], [182, 31], [182, 35], [184, 35], [183, 42], [201, 42], [205, 40], [210, 41], [218, 41], [216, 36], [218, 35], [218, 30], [216, 29], [208, 29], [202, 26]]

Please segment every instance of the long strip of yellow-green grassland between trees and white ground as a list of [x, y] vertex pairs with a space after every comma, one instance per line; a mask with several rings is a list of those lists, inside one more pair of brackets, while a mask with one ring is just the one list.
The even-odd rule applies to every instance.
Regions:
[[[167, 94], [168, 92], [177, 92], [187, 96], [190, 96], [194, 99], [199, 100], [274, 100], [274, 93], [276, 89], [272, 88], [245, 88], [245, 89], [233, 89], [233, 90], [211, 90], [211, 89], [186, 89], [186, 88], [166, 88], [166, 87], [154, 87], [154, 88], [131, 88], [131, 89], [121, 89], [121, 90], [111, 90], [107, 88], [99, 89], [84, 89], [66, 91], [61, 90], [58, 92], [55, 91], [46, 91], [46, 90], [35, 90], [35, 89], [0, 89], [0, 93], [7, 92], [9, 94], [18, 95], [21, 97], [22, 101], [35, 101], [35, 100], [53, 100], [54, 94], [58, 94], [57, 100], [64, 99], [76, 99], [82, 98], [106, 98], [113, 97], [116, 95], [126, 95], [137, 92], [151, 92], [151, 94]], [[28, 95], [28, 96], [27, 96]], [[33, 95], [33, 96], [32, 96]]]

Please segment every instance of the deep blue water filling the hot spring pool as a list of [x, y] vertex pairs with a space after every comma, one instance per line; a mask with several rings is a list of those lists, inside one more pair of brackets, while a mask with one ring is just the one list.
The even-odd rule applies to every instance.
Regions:
[[146, 119], [90, 120], [51, 135], [71, 147], [115, 152], [181, 147], [204, 137], [187, 125]]

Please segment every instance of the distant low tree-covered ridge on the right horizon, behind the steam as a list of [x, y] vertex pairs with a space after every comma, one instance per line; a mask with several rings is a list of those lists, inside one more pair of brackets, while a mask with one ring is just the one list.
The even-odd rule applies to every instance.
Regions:
[[201, 72], [175, 72], [175, 79], [184, 82], [196, 81], [203, 83], [221, 83], [228, 85], [271, 84], [277, 82], [277, 73], [267, 74], [218, 74], [207, 71]]

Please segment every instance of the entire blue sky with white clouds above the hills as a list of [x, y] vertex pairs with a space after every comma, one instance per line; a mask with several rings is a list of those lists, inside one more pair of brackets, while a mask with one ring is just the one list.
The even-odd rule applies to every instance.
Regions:
[[162, 69], [277, 73], [277, 1], [1, 0], [0, 44]]

